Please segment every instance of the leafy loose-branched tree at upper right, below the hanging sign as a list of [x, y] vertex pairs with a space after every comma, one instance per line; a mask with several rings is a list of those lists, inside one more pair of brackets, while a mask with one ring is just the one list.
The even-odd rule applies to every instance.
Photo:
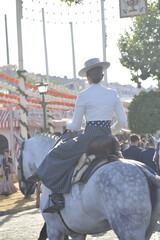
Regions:
[[131, 71], [138, 87], [148, 78], [160, 88], [160, 11], [157, 2], [148, 5], [148, 14], [133, 18], [130, 30], [118, 40], [120, 62]]

